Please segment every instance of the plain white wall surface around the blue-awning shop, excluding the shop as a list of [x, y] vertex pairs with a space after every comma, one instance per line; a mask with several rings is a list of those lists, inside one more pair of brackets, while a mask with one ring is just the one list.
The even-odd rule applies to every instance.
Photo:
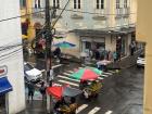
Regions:
[[[0, 21], [20, 15], [18, 0], [3, 0], [0, 3]], [[0, 47], [22, 43], [21, 18], [0, 22]], [[14, 51], [14, 53], [12, 53]], [[8, 54], [8, 55], [5, 55]], [[4, 55], [2, 58], [2, 55]], [[0, 52], [0, 65], [8, 66], [8, 78], [13, 86], [9, 92], [9, 114], [16, 114], [25, 109], [25, 88], [23, 75], [22, 47]]]

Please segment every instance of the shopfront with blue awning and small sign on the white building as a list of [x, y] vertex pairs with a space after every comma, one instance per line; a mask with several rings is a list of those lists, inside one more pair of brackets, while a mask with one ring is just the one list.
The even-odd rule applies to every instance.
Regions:
[[3, 76], [7, 74], [7, 66], [0, 67], [0, 114], [8, 113], [8, 92], [12, 91], [12, 86], [10, 81], [8, 80], [7, 76]]

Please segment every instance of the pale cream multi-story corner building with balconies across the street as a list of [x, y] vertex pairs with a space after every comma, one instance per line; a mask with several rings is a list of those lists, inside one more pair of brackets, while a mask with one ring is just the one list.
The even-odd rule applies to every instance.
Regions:
[[[67, 1], [50, 0], [51, 8], [56, 8], [52, 23]], [[33, 1], [33, 8], [34, 12], [42, 10], [45, 1]], [[45, 12], [34, 15], [34, 22], [43, 25]], [[75, 55], [93, 48], [119, 51], [122, 55], [127, 55], [135, 33], [135, 0], [69, 0], [54, 28], [63, 33], [68, 31], [65, 40], [73, 41], [77, 46], [73, 49]]]

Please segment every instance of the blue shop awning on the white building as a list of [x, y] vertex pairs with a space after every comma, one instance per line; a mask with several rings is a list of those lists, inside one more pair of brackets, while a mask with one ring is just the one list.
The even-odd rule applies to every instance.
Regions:
[[0, 78], [0, 94], [7, 93], [9, 91], [12, 91], [12, 86], [9, 83], [7, 77]]

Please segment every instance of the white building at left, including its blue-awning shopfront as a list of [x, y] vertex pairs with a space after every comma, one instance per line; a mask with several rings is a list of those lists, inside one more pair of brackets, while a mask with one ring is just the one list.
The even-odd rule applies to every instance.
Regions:
[[25, 109], [23, 51], [18, 0], [0, 4], [0, 114]]

